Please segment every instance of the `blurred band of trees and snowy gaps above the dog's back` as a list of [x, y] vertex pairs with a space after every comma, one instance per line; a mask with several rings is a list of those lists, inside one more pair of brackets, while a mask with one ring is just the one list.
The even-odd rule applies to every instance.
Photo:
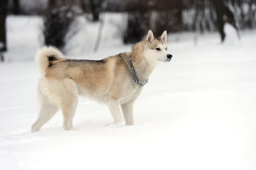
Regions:
[[30, 60], [43, 45], [82, 55], [136, 43], [148, 29], [195, 44], [218, 32], [224, 42], [225, 24], [239, 38], [241, 30], [256, 29], [256, 0], [1, 0], [1, 60]]

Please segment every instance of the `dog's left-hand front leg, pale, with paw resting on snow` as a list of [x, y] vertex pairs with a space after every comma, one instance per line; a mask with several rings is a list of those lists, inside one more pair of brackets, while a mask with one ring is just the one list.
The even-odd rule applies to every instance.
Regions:
[[109, 124], [109, 126], [110, 127], [123, 127], [125, 123], [124, 123], [118, 102], [115, 100], [109, 100], [108, 108], [109, 108], [109, 111], [111, 112], [111, 115], [113, 116], [113, 119], [114, 119], [114, 122], [112, 124]]

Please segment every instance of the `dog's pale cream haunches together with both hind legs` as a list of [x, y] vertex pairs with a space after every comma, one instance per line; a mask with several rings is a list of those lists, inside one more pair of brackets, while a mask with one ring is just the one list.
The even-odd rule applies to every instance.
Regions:
[[[60, 95], [61, 94], [61, 95]], [[38, 82], [38, 97], [41, 111], [32, 124], [31, 131], [37, 132], [58, 111], [62, 109], [64, 130], [73, 129], [73, 117], [78, 103], [78, 92], [73, 80], [47, 80], [41, 78]]]

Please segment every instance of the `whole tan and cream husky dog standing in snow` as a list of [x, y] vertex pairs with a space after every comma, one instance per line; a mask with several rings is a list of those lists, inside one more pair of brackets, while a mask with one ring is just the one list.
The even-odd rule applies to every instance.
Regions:
[[154, 38], [149, 30], [145, 40], [132, 46], [131, 52], [99, 61], [67, 59], [52, 46], [39, 50], [35, 59], [42, 74], [38, 82], [41, 110], [32, 132], [39, 131], [59, 108], [62, 127], [72, 130], [79, 95], [108, 105], [114, 119], [109, 126], [133, 125], [133, 104], [149, 75], [159, 62], [171, 61], [166, 38], [166, 31]]

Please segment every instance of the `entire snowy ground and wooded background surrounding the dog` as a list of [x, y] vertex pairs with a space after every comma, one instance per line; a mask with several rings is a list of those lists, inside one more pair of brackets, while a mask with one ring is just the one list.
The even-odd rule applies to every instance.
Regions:
[[[59, 111], [38, 133], [34, 61], [130, 51], [167, 31], [134, 104], [134, 126], [105, 127], [107, 106], [79, 98], [74, 130]], [[0, 0], [2, 170], [256, 170], [256, 0]], [[168, 154], [168, 156], [166, 156]]]

